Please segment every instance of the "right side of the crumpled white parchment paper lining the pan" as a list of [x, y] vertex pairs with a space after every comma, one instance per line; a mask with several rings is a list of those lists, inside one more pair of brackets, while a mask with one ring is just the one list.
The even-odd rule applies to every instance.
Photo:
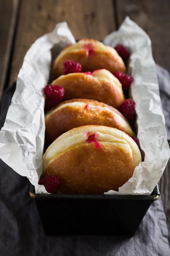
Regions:
[[119, 31], [108, 35], [104, 43], [112, 47], [123, 44], [132, 52], [129, 63], [134, 77], [131, 93], [136, 102], [138, 138], [145, 154], [144, 162], [136, 166], [133, 177], [119, 188], [119, 192], [150, 195], [170, 157], [151, 41], [143, 29], [127, 17]]

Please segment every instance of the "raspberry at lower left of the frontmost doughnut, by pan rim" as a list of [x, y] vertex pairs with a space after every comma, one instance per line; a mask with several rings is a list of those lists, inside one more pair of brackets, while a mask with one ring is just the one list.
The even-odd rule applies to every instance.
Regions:
[[60, 179], [56, 175], [48, 175], [39, 180], [39, 185], [44, 185], [48, 193], [56, 194], [60, 184]]

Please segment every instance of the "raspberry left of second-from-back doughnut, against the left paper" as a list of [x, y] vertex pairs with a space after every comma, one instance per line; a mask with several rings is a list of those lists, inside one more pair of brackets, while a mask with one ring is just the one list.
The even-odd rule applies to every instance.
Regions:
[[51, 107], [55, 107], [64, 98], [64, 88], [59, 85], [47, 84], [44, 93], [48, 97], [48, 103]]

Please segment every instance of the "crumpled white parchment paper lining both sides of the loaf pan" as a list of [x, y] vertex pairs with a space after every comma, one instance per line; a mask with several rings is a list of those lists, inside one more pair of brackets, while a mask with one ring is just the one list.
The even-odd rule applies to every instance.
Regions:
[[[42, 89], [49, 79], [51, 48], [55, 45], [62, 49], [74, 43], [65, 22], [35, 41], [24, 58], [17, 88], [0, 131], [0, 158], [14, 171], [28, 177], [37, 193], [47, 193], [44, 186], [38, 185], [38, 180], [42, 173], [45, 132]], [[150, 38], [127, 17], [119, 31], [108, 35], [104, 43], [113, 47], [121, 43], [132, 51], [129, 64], [135, 79], [132, 98], [136, 102], [138, 137], [145, 153], [144, 162], [136, 167], [133, 177], [119, 188], [119, 192], [107, 193], [149, 195], [170, 157]]]

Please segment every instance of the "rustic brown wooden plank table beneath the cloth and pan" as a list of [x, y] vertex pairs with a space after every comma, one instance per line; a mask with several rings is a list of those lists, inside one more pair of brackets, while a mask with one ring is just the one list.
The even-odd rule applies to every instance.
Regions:
[[[170, 71], [169, 0], [0, 0], [0, 97], [31, 44], [56, 23], [67, 21], [76, 39], [102, 40], [127, 15], [150, 36], [156, 63]], [[159, 187], [170, 230], [169, 170], [170, 163]]]

